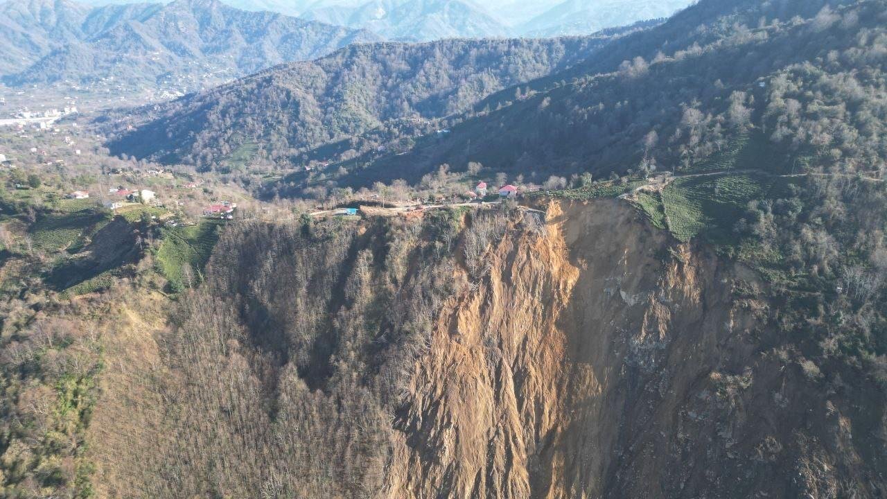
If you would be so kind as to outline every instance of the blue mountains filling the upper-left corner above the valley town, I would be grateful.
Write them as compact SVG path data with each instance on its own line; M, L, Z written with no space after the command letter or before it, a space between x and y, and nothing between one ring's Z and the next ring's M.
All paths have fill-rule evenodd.
M11 86L114 78L200 88L381 39L216 0L96 8L67 0L12 0L0 5L0 22L0 72Z

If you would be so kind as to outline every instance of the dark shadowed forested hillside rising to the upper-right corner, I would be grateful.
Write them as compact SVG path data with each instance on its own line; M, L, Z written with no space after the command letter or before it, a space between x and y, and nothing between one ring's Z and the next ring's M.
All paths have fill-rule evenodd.
M703 2L517 99L491 96L443 142L358 159L346 181L418 178L467 161L538 179L680 171L749 134L769 161L747 167L881 170L887 13L883 2L844 4Z

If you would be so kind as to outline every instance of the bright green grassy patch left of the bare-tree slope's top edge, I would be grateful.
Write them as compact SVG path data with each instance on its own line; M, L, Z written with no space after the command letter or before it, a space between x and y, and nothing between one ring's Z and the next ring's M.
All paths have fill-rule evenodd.
M191 265L195 278L200 280L223 224L219 220L204 220L196 226L163 229L163 242L157 250L157 267L174 288L184 283L184 264Z

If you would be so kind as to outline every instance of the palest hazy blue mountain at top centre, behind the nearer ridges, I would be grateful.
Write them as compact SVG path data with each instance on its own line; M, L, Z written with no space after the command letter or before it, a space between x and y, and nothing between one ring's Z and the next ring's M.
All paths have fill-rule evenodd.
M351 8L339 5L314 9L303 12L302 17L368 29L392 40L481 38L509 33L490 13L468 0L373 0Z

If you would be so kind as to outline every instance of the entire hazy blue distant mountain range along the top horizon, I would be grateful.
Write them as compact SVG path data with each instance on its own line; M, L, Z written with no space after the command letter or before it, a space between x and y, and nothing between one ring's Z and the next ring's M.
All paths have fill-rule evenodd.
M662 18L690 0L228 2L8 0L0 4L0 78L12 87L65 82L194 91L353 43L585 35Z

